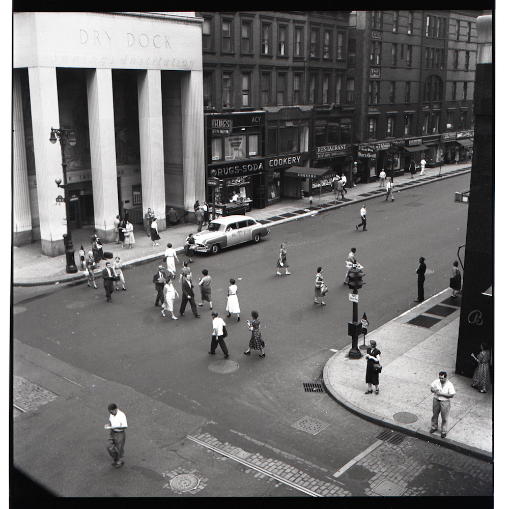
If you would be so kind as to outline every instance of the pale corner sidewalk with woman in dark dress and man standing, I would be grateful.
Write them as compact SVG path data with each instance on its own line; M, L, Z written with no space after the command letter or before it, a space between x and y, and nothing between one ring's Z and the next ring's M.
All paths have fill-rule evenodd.
M338 403L366 420L492 463L493 386L482 394L470 378L455 374L460 306L461 294L453 299L446 289L366 334L365 344L375 340L381 352L378 395L364 394L365 349L360 359L351 359L351 345L327 361L323 381ZM430 385L440 371L456 390L445 438L430 433ZM439 429L441 422L439 417Z

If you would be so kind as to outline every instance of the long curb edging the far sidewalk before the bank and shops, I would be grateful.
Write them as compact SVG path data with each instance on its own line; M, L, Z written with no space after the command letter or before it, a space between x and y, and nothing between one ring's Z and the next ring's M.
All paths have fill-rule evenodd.
M472 171L472 168L465 168L464 171L462 172L458 172L458 173L455 173L454 175L434 175L434 179L450 179L450 178L453 178L453 177L457 177L458 175L463 175L465 173L469 173ZM429 181L426 181L426 182L416 182L415 184L412 184L412 185L409 185L409 186L405 186L405 189L412 189L413 187L418 187L418 186L422 186L422 185L426 185L426 184L429 184L431 182L431 180ZM353 188L350 188L350 189L353 189ZM287 223L287 222L290 222L290 221L297 221L299 219L304 219L306 217L311 217L311 216L315 216L317 214L320 214L321 212L326 212L326 211L330 211L330 210L333 210L333 209L337 209L337 208L340 208L340 207L347 207L349 205L352 205L354 203L359 203L359 202L366 202L367 200L372 200L373 198L377 198L379 196L381 196L383 193L381 194L374 194L373 196L366 196L364 197L362 200L352 200L350 202L343 202L343 203L338 203L337 205L330 205L328 207L320 207L320 208L317 208L317 210L312 210L312 211L309 211L309 212L306 212L305 214L300 214L298 216L295 216L295 217L288 217L286 219L281 219L279 221L273 221L273 222L269 222L269 223L264 223L267 227L270 226L270 228L274 227L274 226L277 226L279 224L284 224L284 223ZM181 254L184 252L184 248L183 247L180 247L179 249L176 249L177 251L177 254ZM126 265L141 265L141 264L144 264L144 263L147 263L147 262L150 262L152 260L155 260L159 257L162 257L164 254L164 251L160 252L160 253L156 253L156 254L149 254L148 256L146 257L142 257L142 258L136 258L135 260L131 260L129 262L125 262L124 263L124 266ZM94 272L94 274L99 274L100 272ZM61 277L60 279L51 279L51 280L48 280L48 281L27 281L27 282L13 282L12 286L13 287L35 287L35 286L44 286L44 285L59 285L59 284L65 284L65 283L71 283L71 282L74 282L74 281L79 281L81 279L86 279L86 274L85 273L80 273L80 274L77 274L75 276L68 276L68 277Z

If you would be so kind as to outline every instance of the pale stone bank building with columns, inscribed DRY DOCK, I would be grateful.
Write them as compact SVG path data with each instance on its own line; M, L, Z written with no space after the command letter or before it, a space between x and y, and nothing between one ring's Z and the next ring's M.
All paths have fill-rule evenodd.
M15 246L58 256L67 224L111 242L148 208L164 230L166 204L205 197L204 161L194 12L14 13Z

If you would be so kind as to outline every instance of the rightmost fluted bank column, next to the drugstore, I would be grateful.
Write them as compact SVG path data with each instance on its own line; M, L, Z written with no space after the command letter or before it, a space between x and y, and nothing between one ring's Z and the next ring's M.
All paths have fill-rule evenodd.
M182 72L181 89L184 209L194 211L196 200L206 200L202 71Z

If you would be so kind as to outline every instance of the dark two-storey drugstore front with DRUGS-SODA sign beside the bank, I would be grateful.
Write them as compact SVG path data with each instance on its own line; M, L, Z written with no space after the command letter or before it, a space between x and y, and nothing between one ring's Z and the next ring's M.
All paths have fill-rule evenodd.
M265 112L206 114L205 122L207 203L216 215L265 208Z

